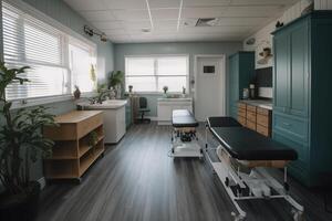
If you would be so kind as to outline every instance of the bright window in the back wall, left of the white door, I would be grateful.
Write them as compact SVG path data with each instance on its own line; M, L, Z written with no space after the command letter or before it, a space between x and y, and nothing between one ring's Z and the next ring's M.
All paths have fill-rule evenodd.
M188 87L188 56L125 57L126 88L135 92L181 92Z

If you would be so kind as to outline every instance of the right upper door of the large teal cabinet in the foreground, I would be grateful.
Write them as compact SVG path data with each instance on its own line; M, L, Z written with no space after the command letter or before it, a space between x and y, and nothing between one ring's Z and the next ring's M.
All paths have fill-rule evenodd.
M309 54L308 21L303 20L290 30L290 103L291 115L308 116Z

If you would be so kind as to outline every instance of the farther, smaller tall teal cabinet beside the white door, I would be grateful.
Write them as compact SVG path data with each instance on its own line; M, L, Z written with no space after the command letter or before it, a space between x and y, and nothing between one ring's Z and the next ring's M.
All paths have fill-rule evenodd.
M238 52L229 56L229 115L234 118L238 118L237 103L253 74L255 52Z

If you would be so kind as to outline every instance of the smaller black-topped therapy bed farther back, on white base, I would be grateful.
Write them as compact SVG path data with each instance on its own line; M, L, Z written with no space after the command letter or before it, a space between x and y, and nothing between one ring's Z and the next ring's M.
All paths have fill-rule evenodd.
M175 109L172 114L172 157L203 158L203 148L197 143L198 122L188 109Z

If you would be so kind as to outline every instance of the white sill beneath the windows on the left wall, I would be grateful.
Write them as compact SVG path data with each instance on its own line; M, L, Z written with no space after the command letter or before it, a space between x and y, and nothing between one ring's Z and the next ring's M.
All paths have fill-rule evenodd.
M94 92L82 93L81 98L89 98L95 95ZM72 101L74 103L74 97L72 95L60 95L60 96L48 96L48 97L38 97L38 98L28 98L28 99L17 99L12 101L11 109L19 109L32 106L46 105L59 102Z

